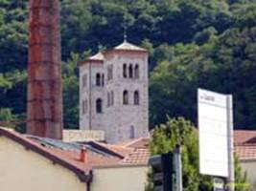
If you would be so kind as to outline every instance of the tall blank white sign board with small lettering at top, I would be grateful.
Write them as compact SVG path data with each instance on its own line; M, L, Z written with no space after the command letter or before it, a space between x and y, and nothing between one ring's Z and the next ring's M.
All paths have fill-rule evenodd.
M199 169L228 177L228 96L198 89Z

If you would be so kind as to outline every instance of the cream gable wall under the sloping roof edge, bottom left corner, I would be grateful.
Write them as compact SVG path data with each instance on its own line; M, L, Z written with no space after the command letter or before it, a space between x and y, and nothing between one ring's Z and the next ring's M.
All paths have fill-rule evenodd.
M86 190L75 173L10 138L0 137L0 159L1 191Z

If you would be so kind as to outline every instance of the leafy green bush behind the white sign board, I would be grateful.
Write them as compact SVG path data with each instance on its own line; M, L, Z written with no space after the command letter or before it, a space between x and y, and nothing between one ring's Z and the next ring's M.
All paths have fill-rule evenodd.
M176 144L182 143L182 173L184 191L210 191L212 190L211 178L202 176L198 171L198 135L193 124L183 117L169 118L169 120L156 126L152 132L150 149L151 154L173 152ZM238 185L246 184L246 176L242 172L239 162L235 162L235 175ZM149 173L151 182L152 175ZM151 191L151 183L146 186ZM236 189L247 191L246 187Z

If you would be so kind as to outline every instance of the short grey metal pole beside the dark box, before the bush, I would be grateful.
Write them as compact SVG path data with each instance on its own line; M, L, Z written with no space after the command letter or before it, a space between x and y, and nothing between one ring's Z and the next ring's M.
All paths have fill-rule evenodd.
M182 161L181 146L177 145L175 149L175 171L176 171L176 191L182 191Z

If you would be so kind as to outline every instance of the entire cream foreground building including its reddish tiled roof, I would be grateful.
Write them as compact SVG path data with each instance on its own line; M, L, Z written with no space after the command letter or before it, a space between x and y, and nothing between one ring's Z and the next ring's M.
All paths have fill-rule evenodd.
M84 153L48 141L0 128L1 191L144 191L148 149L92 141Z

